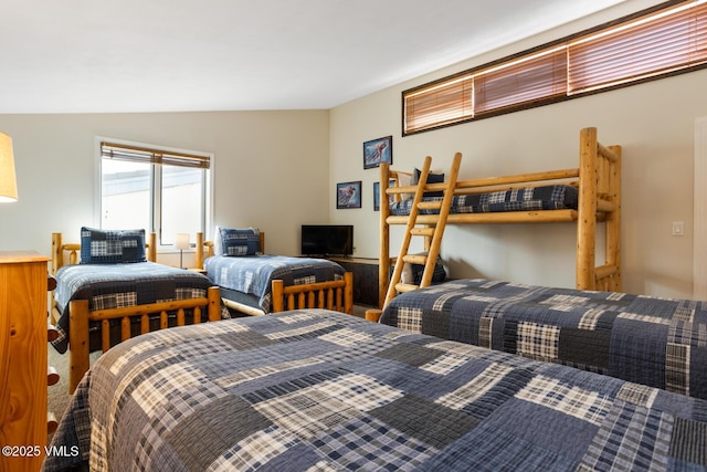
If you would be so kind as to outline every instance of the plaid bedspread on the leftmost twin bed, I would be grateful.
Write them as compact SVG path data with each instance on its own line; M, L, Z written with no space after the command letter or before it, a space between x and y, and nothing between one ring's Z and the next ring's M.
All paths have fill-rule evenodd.
M68 347L68 303L88 300L89 310L109 310L148 303L207 296L213 284L194 271L154 262L130 264L76 264L56 271L54 297L61 313L52 345L60 353ZM119 323L119 321L117 322ZM89 327L97 331L98 326Z

